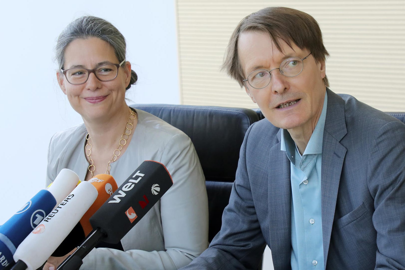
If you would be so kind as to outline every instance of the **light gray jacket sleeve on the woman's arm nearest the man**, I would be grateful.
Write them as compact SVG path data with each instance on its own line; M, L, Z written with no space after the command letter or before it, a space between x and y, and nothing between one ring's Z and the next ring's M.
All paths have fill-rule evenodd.
M192 142L185 134L168 141L161 160L173 186L160 200L165 251L93 249L83 269L178 269L208 246L208 200L205 179ZM136 237L136 236L135 236Z

